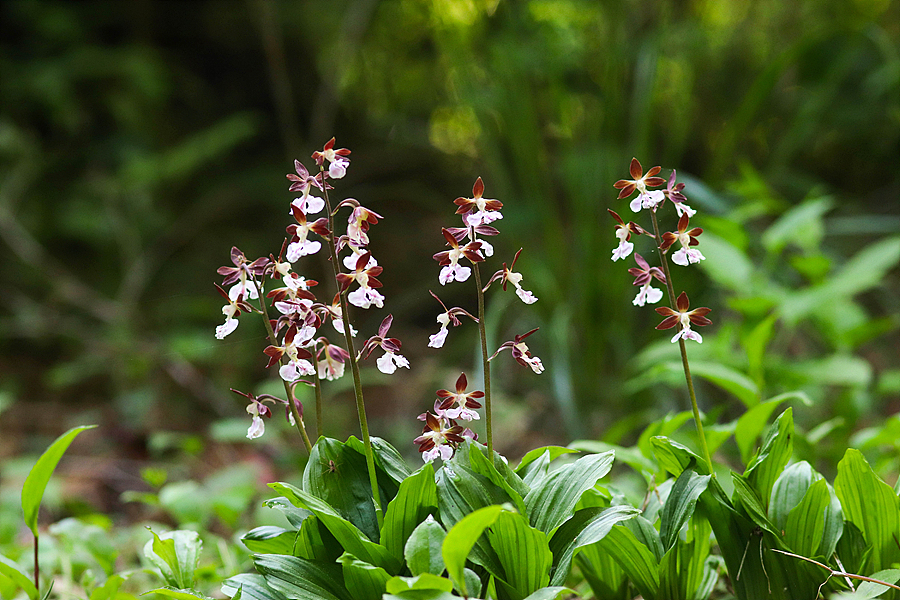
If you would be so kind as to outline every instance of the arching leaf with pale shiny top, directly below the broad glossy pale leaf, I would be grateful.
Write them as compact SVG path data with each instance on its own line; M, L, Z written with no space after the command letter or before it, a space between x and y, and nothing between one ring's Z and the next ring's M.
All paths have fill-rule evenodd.
M641 514L639 509L627 505L576 511L550 539L550 551L553 553L553 576L550 583L559 585L566 580L572 566L572 558L578 550L599 542L614 525L639 514Z

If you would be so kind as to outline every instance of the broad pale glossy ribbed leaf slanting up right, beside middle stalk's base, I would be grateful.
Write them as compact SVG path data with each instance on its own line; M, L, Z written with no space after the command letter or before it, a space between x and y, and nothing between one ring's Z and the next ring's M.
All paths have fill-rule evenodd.
M581 495L609 473L613 452L589 454L536 482L525 496L531 525L552 536L572 516Z

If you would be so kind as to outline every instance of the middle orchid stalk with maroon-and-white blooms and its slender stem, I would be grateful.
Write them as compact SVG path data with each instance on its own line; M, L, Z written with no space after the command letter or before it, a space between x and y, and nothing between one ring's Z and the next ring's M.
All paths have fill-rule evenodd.
M476 297L478 301L478 316L474 317L461 308L448 309L446 305L441 302L440 298L435 296L432 292L431 295L441 303L444 312L437 317L437 322L440 324L441 329L429 338L428 345L432 348L440 348L443 346L444 341L447 338L447 327L451 323L454 326L459 325L460 320L458 317L460 315L466 315L478 323L484 372L484 391L477 392L477 396L472 395L471 397L484 398L484 422L488 455L493 456L494 434L493 421L491 418L491 360L496 357L501 350L504 350L507 347L513 347L513 356L518 362L523 365L531 366L535 373L541 373L544 368L540 359L533 357L531 353L528 352L524 343L521 343L520 340L520 338L524 339L537 331L536 329L525 335L516 336L515 343L504 343L493 355L488 354L487 330L484 322L484 295L491 284L499 280L502 281L501 285L504 290L506 290L507 285L511 283L516 289L516 295L525 304L534 304L538 299L537 296L522 287L522 274L513 271L516 261L522 253L521 248L516 252L509 267L506 266L506 263L503 263L503 268L494 273L490 279L488 279L487 284L482 282L479 263L484 262L487 257L491 257L494 254L493 246L491 246L484 238L495 236L500 233L495 227L491 226L491 223L503 218L503 215L500 212L500 209L503 208L503 203L499 200L484 197L484 182L481 177L479 177L472 186L472 197L457 198L454 200L454 204L457 206L456 214L462 217L463 227L450 227L441 230L441 233L447 242L447 246L449 246L449 250L444 250L434 255L434 259L438 261L438 264L441 266L438 281L441 285L446 285L453 281L464 282L471 277L472 272L474 271ZM461 264L461 261L463 260L467 261L471 267ZM511 346L510 344L514 344L514 346ZM524 357L527 358L523 360ZM460 377L460 381L464 388L466 382L465 375ZM459 387L460 381L457 382L457 387ZM439 398L445 397L441 396L441 392L444 391L446 390L438 392ZM416 438L415 441L419 444L419 451L422 452L422 457L425 461L431 462L437 457L447 459L452 456L453 448L462 441L463 437L475 437L475 434L472 433L471 430L463 429L461 426L457 425L456 419L478 419L478 413L475 412L473 408L481 408L481 404L476 404L477 406L470 404L468 408L464 410L453 411L446 406L442 407L441 402L436 402L434 414L423 413L420 415L420 420L425 421L425 429L422 435Z

